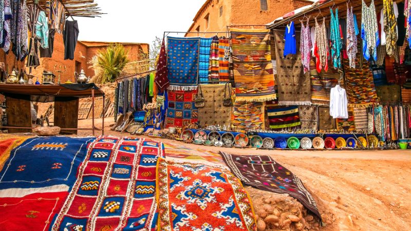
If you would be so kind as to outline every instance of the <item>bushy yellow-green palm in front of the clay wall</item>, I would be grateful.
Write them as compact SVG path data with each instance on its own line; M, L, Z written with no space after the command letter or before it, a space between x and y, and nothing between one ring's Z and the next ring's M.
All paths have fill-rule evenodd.
M95 83L113 83L129 62L128 50L121 44L110 45L106 50L100 50L92 63L92 68L97 69Z

